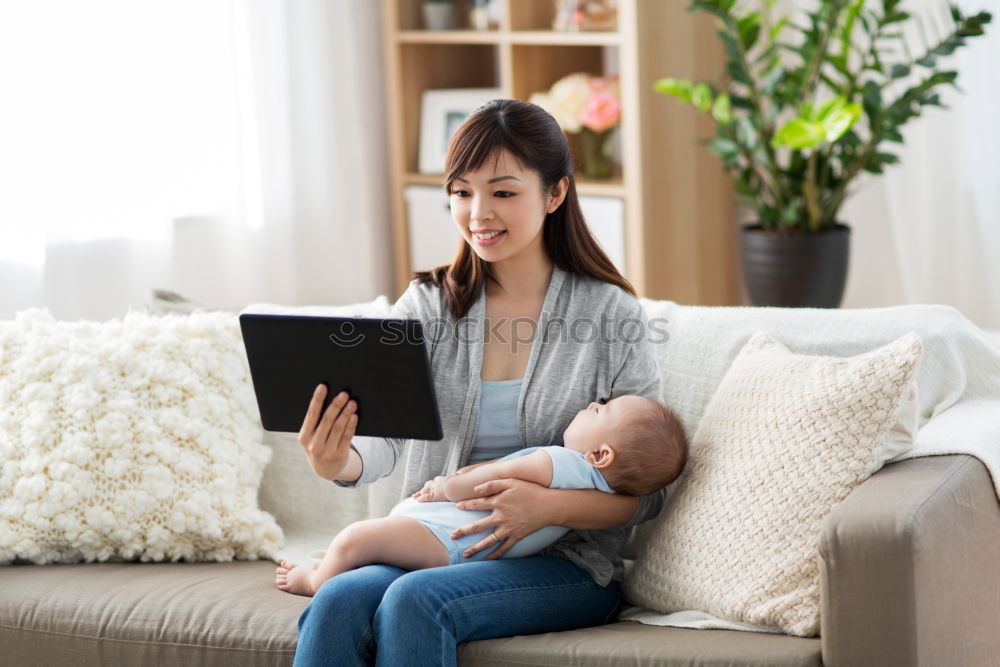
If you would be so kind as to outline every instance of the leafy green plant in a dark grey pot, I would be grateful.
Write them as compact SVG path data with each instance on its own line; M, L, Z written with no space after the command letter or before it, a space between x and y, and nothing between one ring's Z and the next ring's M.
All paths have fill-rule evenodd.
M715 121L708 148L758 218L741 230L754 305L835 308L847 278L850 229L838 213L849 186L898 162L889 144L903 142L902 127L924 108L944 106L939 87L955 86L958 72L939 60L982 35L991 15L950 4L945 21L924 21L901 0L818 0L797 16L775 15L775 0L747 4L689 8L717 20L721 83L664 78L655 89Z

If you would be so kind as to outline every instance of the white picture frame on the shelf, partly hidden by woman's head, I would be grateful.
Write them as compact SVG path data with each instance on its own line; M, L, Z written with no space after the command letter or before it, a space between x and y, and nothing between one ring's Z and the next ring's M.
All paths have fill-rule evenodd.
M503 96L500 88L425 90L420 105L417 170L421 174L444 173L445 155L451 135L473 111L490 100Z

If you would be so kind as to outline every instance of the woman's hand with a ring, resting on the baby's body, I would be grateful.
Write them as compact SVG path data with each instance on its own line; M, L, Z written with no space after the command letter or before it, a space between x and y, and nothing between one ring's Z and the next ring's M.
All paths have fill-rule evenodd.
M531 533L551 525L543 512L548 507L545 494L550 491L552 489L546 486L520 479L494 479L484 482L475 488L475 492L480 496L461 501L458 503L458 508L486 510L491 512L490 515L457 528L452 531L451 537L457 539L484 530L492 530L492 533L484 539L466 549L463 555L469 558L484 549L496 546L497 542L493 539L495 534L502 541L486 560L500 558Z

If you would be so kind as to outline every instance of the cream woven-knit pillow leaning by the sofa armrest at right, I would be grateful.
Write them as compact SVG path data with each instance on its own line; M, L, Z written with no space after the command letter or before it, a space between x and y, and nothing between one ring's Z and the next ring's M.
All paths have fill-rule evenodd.
M673 502L647 524L626 598L817 635L821 523L881 466L922 351L913 333L851 358L752 336L709 401Z

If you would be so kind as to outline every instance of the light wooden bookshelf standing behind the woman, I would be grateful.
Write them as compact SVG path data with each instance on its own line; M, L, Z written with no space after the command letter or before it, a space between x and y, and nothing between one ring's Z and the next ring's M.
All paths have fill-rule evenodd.
M397 295L412 269L427 268L411 267L404 189L441 183L417 170L423 91L496 87L527 100L584 71L619 75L620 164L611 179L576 181L581 196L624 202L626 277L649 298L739 302L732 191L699 141L712 135L711 121L653 91L661 76L722 71L711 21L681 0L619 0L617 30L556 32L552 0L506 0L497 29L428 31L421 0L381 1ZM458 8L458 24L468 25L468 7L459 0ZM569 139L579 163L576 136Z

